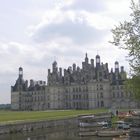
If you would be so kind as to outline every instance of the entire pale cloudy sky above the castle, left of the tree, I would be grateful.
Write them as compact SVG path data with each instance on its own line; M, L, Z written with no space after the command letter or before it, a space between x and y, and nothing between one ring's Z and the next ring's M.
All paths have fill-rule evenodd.
M24 79L46 81L54 60L81 67L87 52L129 72L127 52L108 41L130 12L130 0L0 0L0 104L10 103L20 66Z

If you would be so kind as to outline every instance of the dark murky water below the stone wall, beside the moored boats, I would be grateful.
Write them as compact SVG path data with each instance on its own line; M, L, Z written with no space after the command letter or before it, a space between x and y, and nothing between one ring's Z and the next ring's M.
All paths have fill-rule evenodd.
M110 137L80 137L78 131L78 128L38 129L32 132L0 135L0 140L112 140ZM131 137L129 140L140 140L140 137Z

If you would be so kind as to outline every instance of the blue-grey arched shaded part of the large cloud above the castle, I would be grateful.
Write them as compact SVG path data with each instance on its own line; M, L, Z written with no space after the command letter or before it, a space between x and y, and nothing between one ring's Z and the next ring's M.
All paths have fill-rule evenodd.
M66 20L63 23L49 24L39 28L32 36L36 42L46 42L59 37L68 37L74 43L83 45L101 41L105 32L89 26L87 23Z

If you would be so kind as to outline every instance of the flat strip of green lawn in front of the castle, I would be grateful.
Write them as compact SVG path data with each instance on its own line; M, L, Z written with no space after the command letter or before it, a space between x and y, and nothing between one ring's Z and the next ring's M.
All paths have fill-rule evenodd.
M107 112L107 109L94 110L52 110L52 111L0 111L0 124L22 121L55 120L83 114Z

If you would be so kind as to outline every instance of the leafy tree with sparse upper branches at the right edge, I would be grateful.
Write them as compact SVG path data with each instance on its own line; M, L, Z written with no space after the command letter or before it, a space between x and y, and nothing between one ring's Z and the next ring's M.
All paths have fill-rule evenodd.
M115 46L128 51L128 61L131 69L131 78L128 84L140 99L140 0L131 0L130 21L119 23L111 30Z

